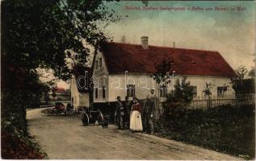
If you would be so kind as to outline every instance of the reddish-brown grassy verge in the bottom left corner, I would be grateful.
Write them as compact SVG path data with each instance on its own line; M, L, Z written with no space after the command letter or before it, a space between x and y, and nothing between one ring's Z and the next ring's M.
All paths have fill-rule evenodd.
M6 120L1 128L1 156L2 159L48 159L30 134Z

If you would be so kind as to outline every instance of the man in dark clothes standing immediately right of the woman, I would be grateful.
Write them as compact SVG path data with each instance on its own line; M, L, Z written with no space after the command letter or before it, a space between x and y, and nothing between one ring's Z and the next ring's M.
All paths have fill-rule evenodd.
M150 101L149 97L150 96L147 95L142 115L145 132L153 134L153 113L155 107L153 101Z

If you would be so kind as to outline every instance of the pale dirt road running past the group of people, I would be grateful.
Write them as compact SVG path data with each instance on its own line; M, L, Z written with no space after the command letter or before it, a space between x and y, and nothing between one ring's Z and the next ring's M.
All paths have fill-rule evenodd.
M82 126L78 116L46 116L41 110L27 111L27 121L49 159L237 159L114 126Z

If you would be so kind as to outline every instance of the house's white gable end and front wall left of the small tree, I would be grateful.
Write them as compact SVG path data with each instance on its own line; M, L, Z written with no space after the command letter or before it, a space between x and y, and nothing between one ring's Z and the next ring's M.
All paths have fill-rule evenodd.
M96 63L94 63L94 88L96 86L99 87L98 89L98 98L95 97L95 89L94 89L94 102L108 102L108 101L116 101L116 97L120 96L122 97L122 100L124 100L124 97L126 96L126 85L136 85L135 94L136 97L139 99L145 98L147 94L150 93L150 89L155 87L155 81L151 77L149 77L149 74L143 74L143 73L130 73L125 76L125 72L120 74L109 74L107 71L107 65L105 62L105 58L101 52L98 52L95 56L95 60L98 60L99 58L102 58L102 67L101 68L95 68ZM129 76L132 76L132 78L129 78ZM145 81L145 78L142 78L141 76L144 76L148 79L148 81ZM133 82L135 81L135 83ZM145 83L140 83L141 81L145 81ZM146 83L147 82L147 83ZM145 85L147 85L147 88ZM107 89L105 92L105 98L103 98L103 85L107 85Z

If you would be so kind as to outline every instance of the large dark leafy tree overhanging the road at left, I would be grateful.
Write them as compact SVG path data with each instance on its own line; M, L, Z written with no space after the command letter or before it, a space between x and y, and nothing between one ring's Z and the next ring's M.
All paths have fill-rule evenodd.
M107 41L102 28L120 17L101 0L6 0L1 7L2 120L15 115L26 130L25 103L44 89L36 68L68 80L73 71L65 60L85 64L90 50L82 41L94 47Z

